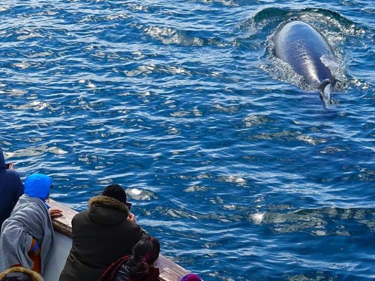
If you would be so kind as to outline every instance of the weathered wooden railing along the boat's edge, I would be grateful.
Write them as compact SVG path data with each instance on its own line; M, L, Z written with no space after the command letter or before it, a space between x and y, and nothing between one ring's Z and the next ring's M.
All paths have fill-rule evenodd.
M57 201L50 200L49 205L52 209L61 209L62 217L53 219L53 227L56 231L72 237L72 219L78 213L69 206L59 203ZM167 259L166 257L160 255L156 261L156 265L159 267L160 281L180 281L181 277L188 274L189 272L176 264L175 262Z

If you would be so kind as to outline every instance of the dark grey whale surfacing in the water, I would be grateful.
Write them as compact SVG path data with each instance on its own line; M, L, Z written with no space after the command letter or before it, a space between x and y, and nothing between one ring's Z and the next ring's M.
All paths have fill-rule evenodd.
M307 85L320 91L325 105L331 103L336 80L322 58L337 60L323 35L309 23L290 19L273 38L275 56L288 63Z

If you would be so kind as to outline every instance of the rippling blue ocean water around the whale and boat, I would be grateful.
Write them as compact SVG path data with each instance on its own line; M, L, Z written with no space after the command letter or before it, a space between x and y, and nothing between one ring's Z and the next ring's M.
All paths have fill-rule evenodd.
M272 52L291 17L331 44L335 100ZM122 184L205 281L375 279L370 0L6 0L0 145L76 210Z

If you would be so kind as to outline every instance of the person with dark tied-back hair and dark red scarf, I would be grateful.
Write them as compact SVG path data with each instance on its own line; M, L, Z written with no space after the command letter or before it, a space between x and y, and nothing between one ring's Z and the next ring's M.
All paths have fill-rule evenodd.
M159 241L147 236L134 246L132 256L113 262L99 281L157 281L160 272L155 261L159 254Z

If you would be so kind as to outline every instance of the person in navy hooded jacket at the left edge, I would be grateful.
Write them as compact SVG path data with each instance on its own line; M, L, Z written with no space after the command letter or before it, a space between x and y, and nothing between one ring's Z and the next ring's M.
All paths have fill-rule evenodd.
M5 163L0 147L0 228L23 194L23 184L13 163Z

